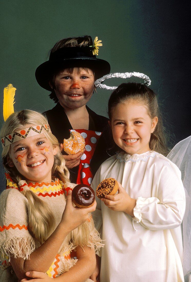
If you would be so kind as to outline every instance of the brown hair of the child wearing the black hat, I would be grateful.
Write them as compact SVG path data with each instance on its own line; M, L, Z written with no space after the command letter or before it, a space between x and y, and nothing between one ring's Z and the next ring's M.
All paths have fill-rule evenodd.
M81 37L63 38L63 39L59 40L54 45L54 47L51 49L50 56L51 56L52 53L54 53L55 51L57 51L58 49L63 48L63 47L86 47L86 46L91 46L91 45L93 45L93 41L92 41L91 36L89 36L89 35L84 35L84 36L81 36ZM83 67L83 69L88 70L88 68L84 68L84 67ZM58 68L57 70L55 70L55 73L53 74L53 76L50 79L50 84L53 87L53 91L49 94L49 97L55 103L58 103L58 98L57 98L56 93L54 91L55 77L61 70L64 71L63 68ZM73 73L73 68L67 68L65 70L70 74ZM77 71L79 71L79 70L80 70L80 68L77 67ZM94 90L96 91L95 86L94 86Z

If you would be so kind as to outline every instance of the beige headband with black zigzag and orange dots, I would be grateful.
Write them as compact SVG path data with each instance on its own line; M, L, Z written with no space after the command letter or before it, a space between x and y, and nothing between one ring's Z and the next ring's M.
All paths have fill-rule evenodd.
M18 131L15 131L13 133L10 133L6 135L5 137L1 138L1 143L3 148L17 142L19 140L23 140L25 138L38 135L38 134L43 134L43 133L50 133L51 129L49 127L49 124L38 124L38 125L33 125Z

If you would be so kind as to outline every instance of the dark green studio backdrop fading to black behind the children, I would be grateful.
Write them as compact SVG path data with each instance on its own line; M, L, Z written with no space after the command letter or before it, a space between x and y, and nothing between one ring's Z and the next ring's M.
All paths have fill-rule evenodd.
M170 2L170 3L168 3ZM111 72L143 72L163 103L171 141L190 135L190 6L176 1L1 1L0 124L3 88L16 90L15 110L54 106L36 82L36 67L61 38L91 35L102 40L99 57ZM119 85L122 79L108 80ZM110 91L97 90L88 106L107 116ZM1 168L1 178L3 171Z

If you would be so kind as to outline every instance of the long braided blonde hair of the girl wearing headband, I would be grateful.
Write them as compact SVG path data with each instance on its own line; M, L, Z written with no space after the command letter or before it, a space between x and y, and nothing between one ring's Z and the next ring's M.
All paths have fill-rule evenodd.
M42 114L31 111L23 110L11 114L1 128L1 138L17 131L21 128L31 125L47 124L47 119ZM57 138L52 133L45 133L45 136L52 144L53 147L59 147ZM3 148L2 158L5 170L10 174L12 180L18 185L23 176L18 172L15 167L8 165L10 158L10 145ZM62 157L60 149L54 156L54 164L52 168L52 179L59 178L62 182L70 182L70 173L65 166L65 160ZM23 192L21 192L23 193ZM55 219L49 206L46 202L42 201L31 190L25 191L25 197L29 202L29 231L31 235L41 244L51 235L55 228Z

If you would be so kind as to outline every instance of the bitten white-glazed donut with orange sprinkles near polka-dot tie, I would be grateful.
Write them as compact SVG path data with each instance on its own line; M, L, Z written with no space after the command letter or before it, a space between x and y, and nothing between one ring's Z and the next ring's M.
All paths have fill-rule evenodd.
M63 150L68 155L74 155L83 151L85 144L83 136L77 131L72 131L70 133L70 137L68 139L64 139L63 141Z

